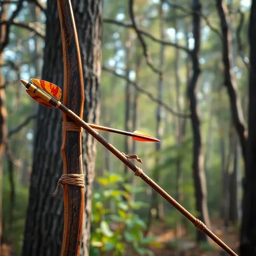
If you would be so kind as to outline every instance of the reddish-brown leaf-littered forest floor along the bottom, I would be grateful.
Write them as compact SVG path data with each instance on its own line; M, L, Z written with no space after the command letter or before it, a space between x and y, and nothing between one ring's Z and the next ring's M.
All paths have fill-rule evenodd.
M223 242L238 253L239 248L239 236L238 231L228 231L224 233L222 231L223 221L219 219L211 220L212 231L216 234ZM157 242L162 245L162 248L150 248L155 256L225 256L228 255L223 249L211 241L210 247L202 248L197 246L194 241L191 241L189 236L185 234L185 230L181 233L180 238L176 238L175 232L169 229L165 223L157 223L153 226L149 232L149 235L157 236ZM2 245L0 251L1 256L17 256L11 253L10 245ZM134 256L137 256L134 254Z

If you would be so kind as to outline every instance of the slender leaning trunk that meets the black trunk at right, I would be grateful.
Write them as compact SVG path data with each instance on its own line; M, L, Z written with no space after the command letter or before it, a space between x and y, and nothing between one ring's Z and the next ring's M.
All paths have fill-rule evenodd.
M224 66L224 85L227 87L233 123L238 133L242 155L246 158L247 131L242 113L238 86L233 72L232 35L229 27L228 9L226 1L216 0L216 8L220 16L222 31L222 61Z

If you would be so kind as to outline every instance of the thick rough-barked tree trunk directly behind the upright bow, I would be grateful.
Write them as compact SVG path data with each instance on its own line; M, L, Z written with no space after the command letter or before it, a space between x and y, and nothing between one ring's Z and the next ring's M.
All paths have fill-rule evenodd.
M72 1L84 73L84 120L97 123L101 67L101 1ZM62 42L57 3L48 1L46 47L42 79L63 88ZM52 196L63 172L61 158L62 114L39 106L36 120L33 172L24 232L23 256L59 256L63 230L62 189ZM88 255L95 140L83 132L85 212L80 255Z

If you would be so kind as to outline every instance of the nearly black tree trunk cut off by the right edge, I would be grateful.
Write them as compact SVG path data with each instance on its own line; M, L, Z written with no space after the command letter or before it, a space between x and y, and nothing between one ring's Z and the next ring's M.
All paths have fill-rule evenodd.
M256 1L252 1L249 20L249 120L240 256L256 254Z

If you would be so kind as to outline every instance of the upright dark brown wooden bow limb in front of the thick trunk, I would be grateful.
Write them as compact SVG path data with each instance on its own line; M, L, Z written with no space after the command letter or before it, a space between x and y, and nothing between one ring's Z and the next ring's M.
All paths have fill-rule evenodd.
M71 0L57 0L64 65L63 104L82 118L84 82ZM63 114L63 121L72 121ZM64 174L82 174L81 132L63 130ZM84 210L84 188L63 184L64 229L61 255L79 255Z

